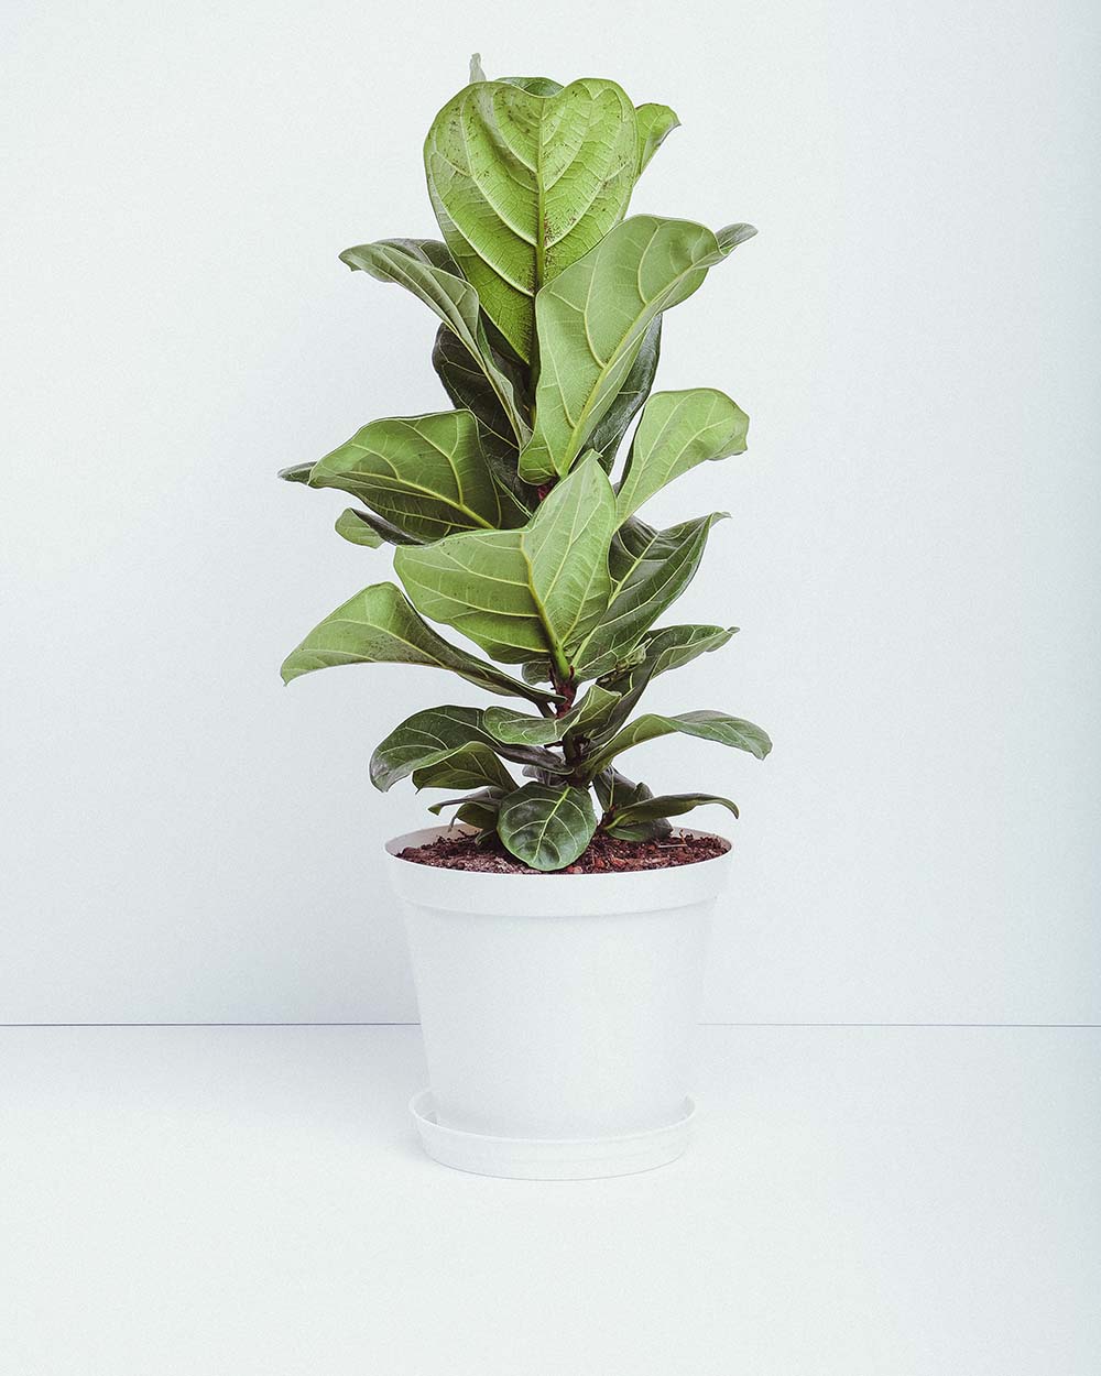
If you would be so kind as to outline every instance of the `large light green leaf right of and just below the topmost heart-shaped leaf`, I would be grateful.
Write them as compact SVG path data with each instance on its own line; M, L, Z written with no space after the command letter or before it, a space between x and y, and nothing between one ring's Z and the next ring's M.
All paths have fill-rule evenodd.
M535 303L535 428L520 454L524 482L570 471L650 326L690 297L728 252L702 224L636 215L544 286Z

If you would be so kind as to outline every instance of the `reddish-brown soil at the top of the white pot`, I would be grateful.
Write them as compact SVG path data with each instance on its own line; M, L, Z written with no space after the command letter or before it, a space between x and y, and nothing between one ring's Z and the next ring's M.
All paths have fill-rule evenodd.
M727 849L718 837L688 837L673 834L661 841L617 841L597 832L585 850L571 866L553 870L552 874L623 874L628 870L669 870L680 864L696 864L701 860L714 860ZM454 835L436 837L424 846L406 846L402 860L413 864L428 864L438 870L476 870L480 874L542 874L523 864L495 842L490 846L475 845L473 834L456 831Z

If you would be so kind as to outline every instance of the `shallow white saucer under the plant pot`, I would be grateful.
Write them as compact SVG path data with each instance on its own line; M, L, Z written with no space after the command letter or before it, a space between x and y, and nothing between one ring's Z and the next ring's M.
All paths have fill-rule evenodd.
M421 1090L409 1101L421 1143L434 1161L513 1181L590 1181L667 1165L688 1146L695 1110L695 1104L685 1099L684 1117L648 1132L556 1141L483 1137L445 1127L436 1121L431 1090Z

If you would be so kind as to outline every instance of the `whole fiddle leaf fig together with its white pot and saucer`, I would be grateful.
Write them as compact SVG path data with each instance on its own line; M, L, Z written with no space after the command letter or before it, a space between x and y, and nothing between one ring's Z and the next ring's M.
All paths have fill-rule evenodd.
M745 451L723 392L652 384L663 312L754 230L626 217L677 125L666 106L606 80L489 81L476 59L471 77L424 147L442 242L341 255L439 318L453 409L372 421L281 475L354 497L337 531L392 545L398 579L326 616L282 676L425 665L512 703L418 711L370 762L376 787L411 779L451 794L434 813L457 809L387 845L431 1080L413 1116L465 1170L626 1174L685 1146L706 919L729 868L727 841L670 819L738 810L655 795L622 757L670 732L769 750L724 711L636 711L658 674L735 632L659 625L724 513L656 530L639 512Z

